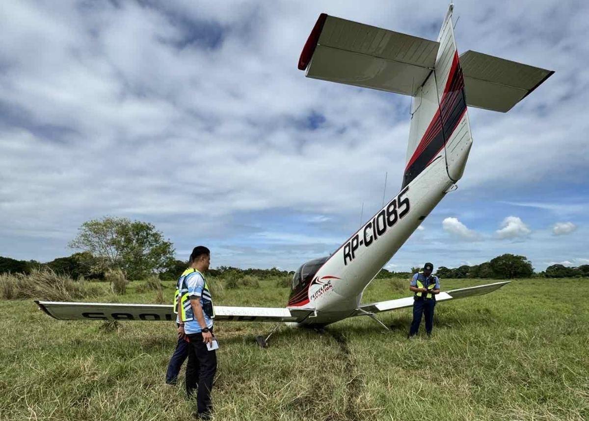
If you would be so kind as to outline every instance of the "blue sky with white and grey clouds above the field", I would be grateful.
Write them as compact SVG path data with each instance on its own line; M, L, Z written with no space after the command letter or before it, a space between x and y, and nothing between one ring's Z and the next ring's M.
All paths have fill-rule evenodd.
M418 4L418 5L415 5ZM0 8L0 255L70 255L82 222L152 222L177 257L294 269L398 192L409 98L306 79L321 12L436 39L445 1L18 1ZM589 263L589 8L456 1L459 52L556 73L474 145L386 266Z

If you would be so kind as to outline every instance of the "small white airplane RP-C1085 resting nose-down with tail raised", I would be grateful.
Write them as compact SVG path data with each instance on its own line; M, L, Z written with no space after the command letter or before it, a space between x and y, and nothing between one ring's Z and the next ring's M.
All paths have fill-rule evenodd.
M362 293L456 188L472 145L466 106L507 112L554 73L475 51L458 55L452 10L450 5L437 41L319 16L299 59L307 77L413 97L401 191L334 253L300 266L286 308L215 306L215 320L325 326L352 316L378 321L375 313L412 306L412 296L361 304ZM436 300L482 295L506 283L441 292ZM176 319L173 305L37 304L60 320Z

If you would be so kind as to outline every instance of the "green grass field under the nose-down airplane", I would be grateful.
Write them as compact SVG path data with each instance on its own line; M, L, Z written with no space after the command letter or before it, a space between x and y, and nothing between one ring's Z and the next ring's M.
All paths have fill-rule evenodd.
M493 282L493 281L490 281ZM515 280L489 295L439 303L434 335L407 340L411 309L348 319L325 332L217 323L216 420L587 420L587 280ZM442 289L479 280L442 280ZM99 284L107 289L108 285ZM172 283L164 283L166 300ZM110 302L154 302L133 282ZM276 280L224 289L217 305L284 306ZM408 295L373 282L364 302ZM93 299L96 300L96 299ZM423 325L421 330L423 330ZM183 383L164 386L170 322L65 322L31 300L0 300L0 419L184 420ZM183 373L181 374L183 375Z

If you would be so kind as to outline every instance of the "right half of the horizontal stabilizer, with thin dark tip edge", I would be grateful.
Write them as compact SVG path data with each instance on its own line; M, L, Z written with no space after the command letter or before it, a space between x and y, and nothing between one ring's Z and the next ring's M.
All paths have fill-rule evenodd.
M466 105L501 112L509 111L554 73L476 51L461 54L460 65Z

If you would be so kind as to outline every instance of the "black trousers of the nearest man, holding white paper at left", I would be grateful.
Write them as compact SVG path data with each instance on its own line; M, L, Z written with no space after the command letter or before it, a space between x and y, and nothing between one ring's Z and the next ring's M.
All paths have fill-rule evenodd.
M207 349L201 333L192 333L188 338L190 347L186 366L186 393L192 397L196 392L198 413L210 415L213 411L211 390L217 372L217 354Z

